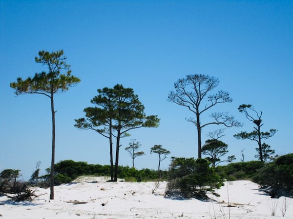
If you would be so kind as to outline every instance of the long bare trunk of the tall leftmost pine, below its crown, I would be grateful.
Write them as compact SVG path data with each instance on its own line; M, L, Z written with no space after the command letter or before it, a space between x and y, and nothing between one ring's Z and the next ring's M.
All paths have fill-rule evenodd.
M54 165L55 165L55 111L54 94L51 93L51 112L52 112L52 157L51 157L51 177L50 177L50 199L54 199Z

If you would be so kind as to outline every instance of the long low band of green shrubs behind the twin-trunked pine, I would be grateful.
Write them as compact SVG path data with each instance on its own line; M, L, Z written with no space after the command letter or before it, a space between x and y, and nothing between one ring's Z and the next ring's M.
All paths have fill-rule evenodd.
M55 164L55 184L70 183L72 180L83 175L110 176L110 165L87 164L72 160L61 161ZM118 178L126 181L156 180L158 172L151 169L137 170L129 166L118 167ZM162 178L167 179L167 171L162 171Z

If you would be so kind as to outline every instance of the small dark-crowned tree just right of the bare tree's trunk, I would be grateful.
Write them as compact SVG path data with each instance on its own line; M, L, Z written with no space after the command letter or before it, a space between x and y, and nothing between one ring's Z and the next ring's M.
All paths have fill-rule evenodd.
M204 155L208 155L206 159L212 164L212 166L216 166L222 162L231 162L235 160L235 156L229 156L227 160L221 161L220 157L225 156L229 151L228 145L224 142L216 139L209 139L206 141L206 144L202 147L202 153Z

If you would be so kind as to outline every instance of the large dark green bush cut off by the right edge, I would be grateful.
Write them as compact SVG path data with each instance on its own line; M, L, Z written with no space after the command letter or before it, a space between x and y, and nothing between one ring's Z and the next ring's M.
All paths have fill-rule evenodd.
M293 154L287 154L266 164L254 178L256 183L268 188L272 198L293 196Z

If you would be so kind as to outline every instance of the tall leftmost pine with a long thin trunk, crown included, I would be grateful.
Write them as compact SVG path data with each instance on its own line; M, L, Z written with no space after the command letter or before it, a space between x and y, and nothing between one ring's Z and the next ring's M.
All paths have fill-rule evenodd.
M55 113L54 94L64 92L69 87L76 85L80 79L71 74L70 65L66 64L66 57L63 50L57 52L40 51L39 57L35 57L36 63L40 63L48 68L48 72L36 73L33 78L28 77L17 82L10 83L10 87L15 90L16 95L24 93L38 93L50 98L52 113L52 159L51 159L51 192L50 199L54 199L54 161L55 161ZM64 71L64 73L62 73Z

